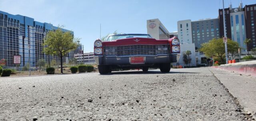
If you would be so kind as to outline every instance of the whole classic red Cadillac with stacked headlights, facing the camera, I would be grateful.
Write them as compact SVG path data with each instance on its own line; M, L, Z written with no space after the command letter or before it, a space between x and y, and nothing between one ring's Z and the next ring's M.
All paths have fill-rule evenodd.
M177 37L169 40L156 40L148 34L118 34L108 36L102 42L94 42L94 58L100 74L110 73L112 69L160 68L170 71L170 63L180 57L180 42Z

